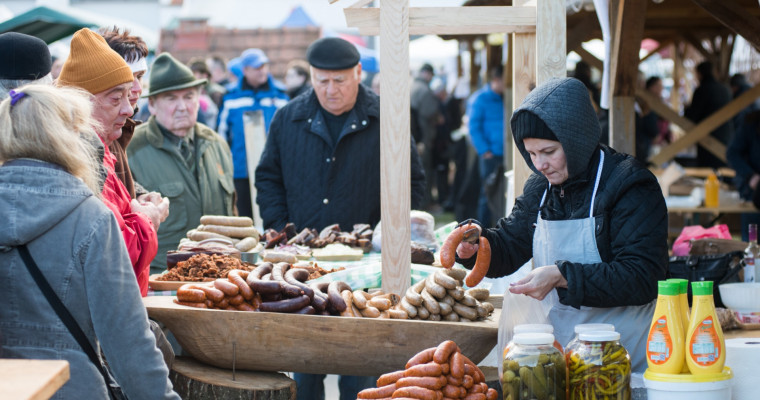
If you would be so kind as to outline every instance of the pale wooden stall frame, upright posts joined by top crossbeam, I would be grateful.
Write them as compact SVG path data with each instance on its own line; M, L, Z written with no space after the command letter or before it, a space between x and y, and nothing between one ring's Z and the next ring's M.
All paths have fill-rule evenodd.
M410 8L409 0L381 0L380 7L365 7L371 2L354 1L343 12L349 27L358 28L364 35L379 35L382 44L382 288L404 293L411 280L409 35L512 34L512 104L519 105L535 85L565 76L565 1L515 0L514 6ZM522 159L515 162L516 192L529 175Z

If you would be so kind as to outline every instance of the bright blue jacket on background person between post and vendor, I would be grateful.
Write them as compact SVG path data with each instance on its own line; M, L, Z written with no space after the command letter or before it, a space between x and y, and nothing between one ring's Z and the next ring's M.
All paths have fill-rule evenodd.
M504 98L485 85L473 93L467 105L472 144L478 155L490 151L504 155Z

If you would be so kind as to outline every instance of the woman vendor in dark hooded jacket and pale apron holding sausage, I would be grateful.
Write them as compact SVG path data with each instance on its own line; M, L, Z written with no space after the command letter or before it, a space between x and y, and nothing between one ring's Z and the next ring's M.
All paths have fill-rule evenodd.
M643 372L657 281L668 265L657 179L633 156L599 143L588 91L576 79L537 87L511 126L534 173L508 217L479 227L491 243L487 276L512 274L533 258L533 270L509 290L553 302L557 340L569 342L576 324L614 324L633 371ZM457 260L472 268L476 253L476 244L462 242Z

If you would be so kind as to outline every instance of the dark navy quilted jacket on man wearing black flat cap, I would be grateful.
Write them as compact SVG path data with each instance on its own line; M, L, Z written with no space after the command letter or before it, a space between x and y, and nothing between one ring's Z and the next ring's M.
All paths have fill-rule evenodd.
M359 86L338 143L325 127L314 89L277 111L256 168L256 203L264 228L292 222L300 230L380 221L380 98ZM398 147L404 149L403 144ZM409 144L411 204L425 191L414 140Z

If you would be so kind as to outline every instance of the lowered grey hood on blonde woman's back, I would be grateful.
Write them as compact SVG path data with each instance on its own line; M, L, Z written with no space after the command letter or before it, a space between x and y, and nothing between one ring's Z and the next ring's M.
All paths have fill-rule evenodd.
M28 243L92 196L85 184L46 162L19 159L0 166L0 249Z

